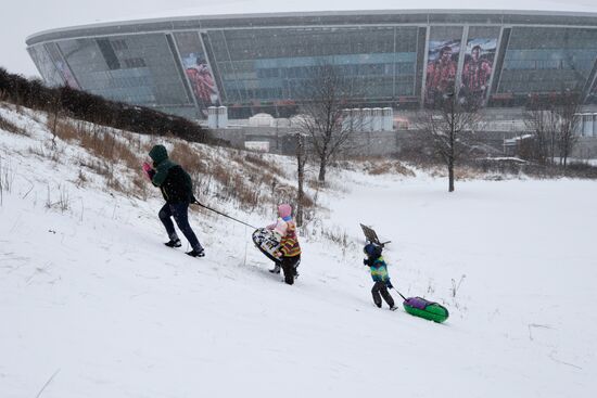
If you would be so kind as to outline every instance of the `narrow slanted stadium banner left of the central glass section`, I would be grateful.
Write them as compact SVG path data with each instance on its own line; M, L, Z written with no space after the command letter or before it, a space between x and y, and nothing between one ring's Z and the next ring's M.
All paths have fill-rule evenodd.
M219 95L199 33L180 31L174 36L199 110L204 117L207 117L207 107L218 105Z

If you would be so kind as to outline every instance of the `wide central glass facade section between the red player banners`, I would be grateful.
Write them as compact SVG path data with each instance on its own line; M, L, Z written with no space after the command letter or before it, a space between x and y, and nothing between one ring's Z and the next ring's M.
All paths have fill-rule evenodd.
M209 31L226 103L300 100L321 65L358 78L371 102L414 95L416 27Z

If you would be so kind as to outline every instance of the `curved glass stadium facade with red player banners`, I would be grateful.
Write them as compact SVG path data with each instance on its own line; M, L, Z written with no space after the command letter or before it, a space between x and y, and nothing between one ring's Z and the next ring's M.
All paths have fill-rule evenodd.
M417 108L455 88L488 107L566 90L597 103L597 14L359 11L189 16L27 38L50 85L191 118L296 112L318 65L366 87L363 106Z

